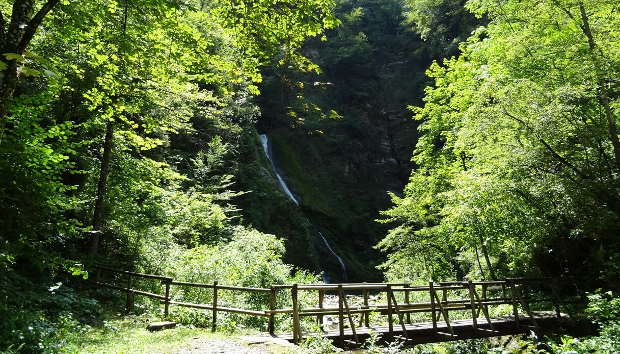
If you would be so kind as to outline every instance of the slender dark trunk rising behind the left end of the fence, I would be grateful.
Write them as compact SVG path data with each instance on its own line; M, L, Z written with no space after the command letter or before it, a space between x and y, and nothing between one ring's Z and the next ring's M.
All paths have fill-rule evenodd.
M95 200L95 212L92 217L92 233L89 240L89 255L95 255L99 248L99 235L104 212L105 192L107 190L108 172L110 170L110 155L112 154L112 138L114 135L114 122L108 120L105 129L104 155L101 159L99 184L97 185L97 199Z

